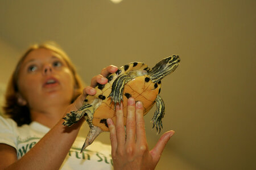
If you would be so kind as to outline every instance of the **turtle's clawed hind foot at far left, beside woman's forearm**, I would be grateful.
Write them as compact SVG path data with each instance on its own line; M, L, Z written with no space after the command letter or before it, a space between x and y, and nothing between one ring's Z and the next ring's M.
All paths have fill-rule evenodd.
M85 104L82 105L82 107L79 108L77 111L71 111L70 113L67 113L66 116L63 118L63 125L72 126L73 124L76 124L82 116L86 116L86 110L88 110L88 108L90 107L92 107L92 105Z

